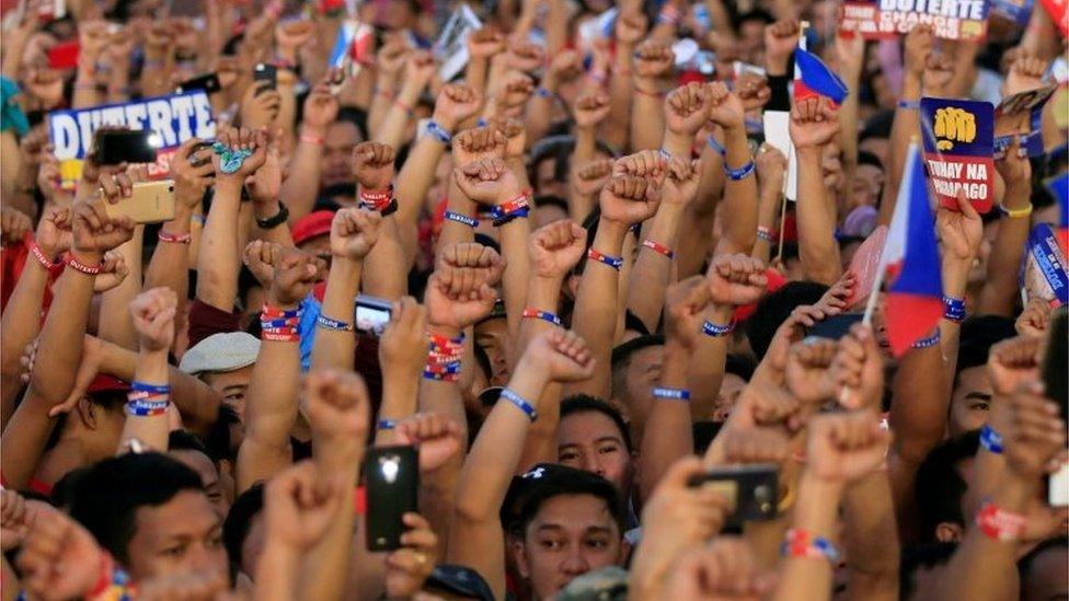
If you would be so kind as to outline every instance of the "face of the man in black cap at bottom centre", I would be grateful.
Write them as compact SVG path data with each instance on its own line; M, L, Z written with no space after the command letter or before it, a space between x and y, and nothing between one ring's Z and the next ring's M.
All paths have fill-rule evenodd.
M623 541L604 500L560 495L542 504L518 547L520 575L536 599L550 599L576 576L618 565Z

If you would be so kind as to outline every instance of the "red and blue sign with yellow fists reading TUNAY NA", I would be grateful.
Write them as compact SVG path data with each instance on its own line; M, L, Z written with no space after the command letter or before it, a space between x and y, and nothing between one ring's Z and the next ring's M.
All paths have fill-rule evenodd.
M978 212L991 210L995 196L995 108L990 103L920 100L924 165L935 197L957 210L957 195Z

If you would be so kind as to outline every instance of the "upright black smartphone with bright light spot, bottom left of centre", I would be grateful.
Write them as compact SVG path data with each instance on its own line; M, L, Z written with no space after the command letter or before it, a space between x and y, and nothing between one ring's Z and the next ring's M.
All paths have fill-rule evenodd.
M364 460L368 551L401 548L401 517L418 511L419 453L415 447L373 447Z

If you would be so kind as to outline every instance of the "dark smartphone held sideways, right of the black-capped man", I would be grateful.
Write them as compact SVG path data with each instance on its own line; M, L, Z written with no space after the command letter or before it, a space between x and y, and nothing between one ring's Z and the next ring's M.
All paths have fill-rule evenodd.
M725 527L767 521L777 516L780 467L773 463L717 467L690 479L691 488L712 487L727 498Z

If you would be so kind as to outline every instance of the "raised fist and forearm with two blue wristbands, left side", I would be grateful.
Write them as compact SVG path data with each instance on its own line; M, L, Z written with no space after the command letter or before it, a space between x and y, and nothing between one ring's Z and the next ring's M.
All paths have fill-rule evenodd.
M135 440L149 449L165 452L170 434L171 385L168 350L174 342L177 296L169 288L152 288L138 294L129 312L138 337L137 368L134 370L126 423L118 452L134 450Z

